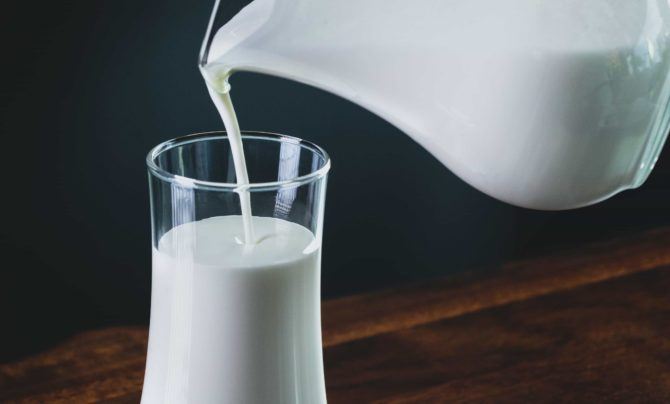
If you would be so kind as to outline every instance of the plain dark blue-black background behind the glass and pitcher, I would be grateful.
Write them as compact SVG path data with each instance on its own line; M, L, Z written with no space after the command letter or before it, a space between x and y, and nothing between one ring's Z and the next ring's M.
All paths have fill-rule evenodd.
M3 6L0 360L78 330L148 322L145 154L222 128L196 68L210 3ZM530 211L475 191L345 100L258 75L232 85L243 129L306 138L331 154L325 297L495 270L670 223L667 156L641 189L576 211Z

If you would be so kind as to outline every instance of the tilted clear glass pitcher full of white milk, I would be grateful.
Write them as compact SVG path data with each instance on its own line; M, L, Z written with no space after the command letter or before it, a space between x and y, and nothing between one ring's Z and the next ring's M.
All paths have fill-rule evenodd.
M214 27L204 71L215 87L236 70L320 87L489 195L573 208L653 167L669 22L662 1L255 0Z

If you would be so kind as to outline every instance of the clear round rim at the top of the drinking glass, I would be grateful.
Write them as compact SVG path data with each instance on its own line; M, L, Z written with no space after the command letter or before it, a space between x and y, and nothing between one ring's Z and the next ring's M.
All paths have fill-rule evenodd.
M299 145L301 147L311 150L313 153L320 155L324 159L324 164L319 169L314 170L309 174L301 175L287 180L270 181L270 182L252 182L246 185L239 185L237 183L230 183L230 182L204 181L195 178L185 177L182 175L173 174L159 167L155 163L155 159L160 154L178 146L183 146L186 144L204 140L228 139L227 132L225 130L222 130L222 131L192 133L189 135L176 137L159 143L158 145L154 146L151 150L149 150L149 153L147 153L146 157L147 168L149 169L151 174L162 179L163 181L176 183L179 184L179 186L181 187L207 189L212 191L233 191L233 192L271 191L281 188L295 188L301 185L318 181L321 178L325 177L328 174L328 171L330 171L330 156L321 146L317 145L316 143L310 142L308 140L303 140L294 136L282 135L273 132L243 130L241 131L241 133L243 141L245 139L256 139L256 140L266 140L279 143L291 143Z

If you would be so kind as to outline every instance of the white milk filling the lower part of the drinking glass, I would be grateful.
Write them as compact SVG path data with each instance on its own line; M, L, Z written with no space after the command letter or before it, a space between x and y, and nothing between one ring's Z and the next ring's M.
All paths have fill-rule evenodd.
M320 245L240 216L177 226L153 252L142 403L324 403Z

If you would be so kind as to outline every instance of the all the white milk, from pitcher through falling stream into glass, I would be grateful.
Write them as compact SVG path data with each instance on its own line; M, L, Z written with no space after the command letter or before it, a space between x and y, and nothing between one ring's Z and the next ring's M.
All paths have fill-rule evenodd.
M181 224L154 250L143 403L326 399L320 240L253 216L235 71L356 102L474 187L537 209L639 186L668 131L660 0L255 0L223 26L217 8L200 67L242 215Z

